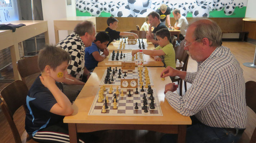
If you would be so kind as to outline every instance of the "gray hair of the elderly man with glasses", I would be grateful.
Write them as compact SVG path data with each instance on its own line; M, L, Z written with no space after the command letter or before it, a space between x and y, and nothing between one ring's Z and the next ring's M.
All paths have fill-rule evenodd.
M195 39L203 39L208 38L212 44L210 46L221 46L221 29L219 25L210 20L210 19L196 19L193 23L189 24L190 26L196 26L196 29L194 31L194 38Z

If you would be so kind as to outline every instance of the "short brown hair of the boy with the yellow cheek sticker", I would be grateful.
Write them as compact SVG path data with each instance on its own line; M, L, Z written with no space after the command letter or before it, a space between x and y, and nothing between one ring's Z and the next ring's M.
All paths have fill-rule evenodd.
M40 50L37 62L38 68L42 72L46 65L51 66L55 70L63 61L68 61L68 63L71 61L70 54L67 51L60 47L46 45L44 49Z

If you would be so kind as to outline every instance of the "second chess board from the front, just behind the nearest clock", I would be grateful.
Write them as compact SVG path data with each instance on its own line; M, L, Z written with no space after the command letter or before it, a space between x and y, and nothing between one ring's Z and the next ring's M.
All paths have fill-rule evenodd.
M102 79L101 79L101 82L100 82L100 85L121 85L121 78L123 78L124 77L124 72L126 72L126 75L127 75L127 77L124 77L124 78L138 78L138 85L141 85L140 84L140 78L139 78L139 72L138 72L138 68L137 67L135 67L135 69L134 70L132 70L132 69L123 69L123 70L121 70L121 73L122 73L122 75L120 75L121 76L121 78L118 78L118 72L119 72L119 68L117 68L117 71L115 71L115 74L113 75L112 73L113 73L113 68L114 67L112 67L112 71L110 71L110 79L112 78L112 76L113 76L113 79L114 79L114 81L111 81L111 84L105 84L104 82L105 82L105 77L106 77L106 75L107 75L107 70L105 70L105 72L104 72L104 75L103 75L103 77L102 77ZM143 80L143 85L144 85L144 87L145 87L145 85L146 85L146 79L144 78L145 77L145 73L144 73L144 70L145 70L145 68L143 68L143 74L142 74L142 80ZM153 80L152 80L152 76L151 76L151 73L150 73L150 70L148 69L148 77L149 77L149 81L150 81L150 85L151 86L154 86L154 83L153 83Z

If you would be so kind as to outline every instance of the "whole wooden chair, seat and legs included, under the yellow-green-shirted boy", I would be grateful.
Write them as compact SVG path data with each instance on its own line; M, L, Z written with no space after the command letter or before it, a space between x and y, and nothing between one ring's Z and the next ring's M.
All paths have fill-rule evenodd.
M186 50L184 50L184 40L181 41L180 45L175 47L175 61L179 60L180 66L176 67L178 70L187 71L187 63L188 63L188 53ZM183 62L183 64L181 63ZM177 64L176 64L177 65ZM172 82L178 82L179 84L179 95L182 96L182 79L178 76L175 76L174 79L172 79ZM184 82L185 91L187 91L187 83Z

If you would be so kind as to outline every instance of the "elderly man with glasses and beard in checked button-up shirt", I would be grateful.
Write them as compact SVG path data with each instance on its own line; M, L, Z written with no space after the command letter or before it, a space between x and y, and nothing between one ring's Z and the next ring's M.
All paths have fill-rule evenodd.
M194 73L167 67L160 77L179 76L192 83L182 97L177 85L165 85L165 98L177 112L191 116L186 143L238 142L247 123L243 70L229 48L222 46L221 29L209 19L188 26L184 50L198 63ZM163 75L163 73L165 73ZM175 142L166 134L162 143Z

